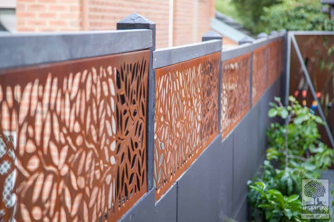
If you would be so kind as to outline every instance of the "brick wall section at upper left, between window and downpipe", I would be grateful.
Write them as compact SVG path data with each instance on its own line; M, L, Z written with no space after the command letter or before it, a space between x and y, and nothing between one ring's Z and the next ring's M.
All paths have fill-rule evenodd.
M16 0L18 32L81 30L81 0Z

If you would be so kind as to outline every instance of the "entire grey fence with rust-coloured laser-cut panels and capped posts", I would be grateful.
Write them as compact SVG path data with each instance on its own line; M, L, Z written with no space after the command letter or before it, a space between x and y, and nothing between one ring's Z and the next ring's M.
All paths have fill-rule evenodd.
M134 23L0 36L0 219L247 219L285 34L153 51L151 21L118 28Z

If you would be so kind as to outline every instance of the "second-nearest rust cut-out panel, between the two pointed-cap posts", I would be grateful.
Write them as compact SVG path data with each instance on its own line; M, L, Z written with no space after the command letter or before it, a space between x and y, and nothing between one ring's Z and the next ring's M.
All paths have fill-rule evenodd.
M155 72L156 200L218 134L219 64L217 52Z

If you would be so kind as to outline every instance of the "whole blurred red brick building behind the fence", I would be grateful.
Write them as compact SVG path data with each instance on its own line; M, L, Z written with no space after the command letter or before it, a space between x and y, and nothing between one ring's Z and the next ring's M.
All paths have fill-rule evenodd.
M137 12L156 23L157 48L201 41L215 8L215 0L6 1L16 5L17 32L115 30L117 21Z

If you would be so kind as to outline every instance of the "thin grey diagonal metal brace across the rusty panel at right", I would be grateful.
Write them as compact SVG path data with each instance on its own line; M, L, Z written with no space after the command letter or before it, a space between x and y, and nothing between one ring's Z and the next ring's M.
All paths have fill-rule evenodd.
M293 44L294 44L295 50L296 50L296 52L297 52L297 56L298 56L299 62L300 62L300 64L301 64L302 68L303 68L305 78L306 78L306 80L307 80L307 83L309 84L309 87L310 87L310 90L311 90L313 99L318 103L318 111L319 111L319 114L320 114L322 120L325 122L325 129L326 129L326 132L327 132L327 134L328 134L329 140L330 140L330 142L331 142L332 148L334 149L334 140L333 140L332 133L331 133L331 131L329 130L329 127L328 127L328 124L327 124L325 115L324 115L324 113L322 112L321 104L319 103L319 100L318 100L317 96L315 95L315 91L314 91L314 88L313 88L313 84L312 84L311 78L310 78L310 76L309 76L309 73L307 72L307 69L306 69L305 63L304 63L304 61L303 61L302 54L300 53L300 50L299 50L299 47L298 47L296 38L295 38L294 35L292 35L292 36L291 36L291 39L292 39L292 42L293 42Z

